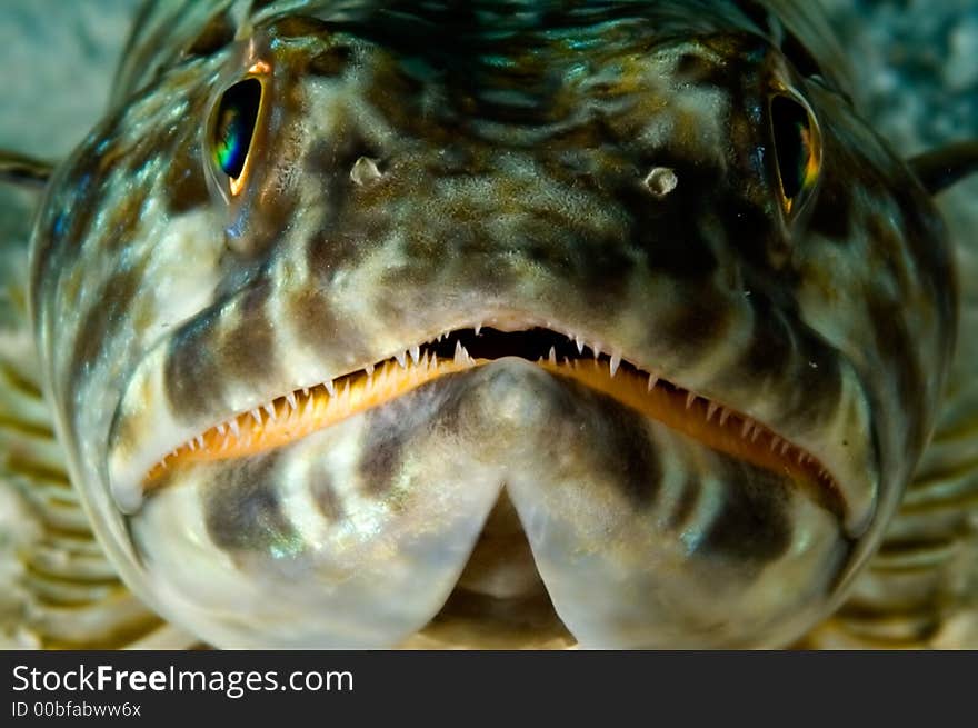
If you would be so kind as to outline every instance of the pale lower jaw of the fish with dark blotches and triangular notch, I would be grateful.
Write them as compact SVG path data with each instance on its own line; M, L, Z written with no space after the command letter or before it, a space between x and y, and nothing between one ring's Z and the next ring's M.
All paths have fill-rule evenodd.
M770 646L851 552L797 475L516 357L161 479L149 590L219 647Z

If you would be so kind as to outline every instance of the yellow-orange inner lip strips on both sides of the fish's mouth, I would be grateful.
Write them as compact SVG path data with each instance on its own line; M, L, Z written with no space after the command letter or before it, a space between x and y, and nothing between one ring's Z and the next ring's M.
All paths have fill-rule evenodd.
M379 407L446 375L491 363L463 351L455 359L425 353L418 361L388 360L376 370L358 371L329 386L290 392L231 417L181 445L147 475L143 490L161 485L168 469L191 462L230 460L257 455ZM602 392L642 415L703 445L820 489L837 490L831 475L800 447L764 425L727 407L677 388L633 368L612 371L590 359L537 362L546 371ZM617 367L616 367L617 368Z

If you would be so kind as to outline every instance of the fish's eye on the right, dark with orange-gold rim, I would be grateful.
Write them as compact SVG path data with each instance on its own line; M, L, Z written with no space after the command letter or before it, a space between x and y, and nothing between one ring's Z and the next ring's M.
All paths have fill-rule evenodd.
M771 131L781 185L781 205L794 213L805 203L821 169L821 140L808 108L778 94L770 102Z

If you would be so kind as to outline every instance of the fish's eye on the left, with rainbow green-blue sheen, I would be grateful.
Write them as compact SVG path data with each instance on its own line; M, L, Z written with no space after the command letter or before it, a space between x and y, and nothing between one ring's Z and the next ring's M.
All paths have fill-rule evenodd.
M228 176L231 195L237 195L244 186L260 107L261 82L247 78L223 92L214 112L211 154L217 168Z

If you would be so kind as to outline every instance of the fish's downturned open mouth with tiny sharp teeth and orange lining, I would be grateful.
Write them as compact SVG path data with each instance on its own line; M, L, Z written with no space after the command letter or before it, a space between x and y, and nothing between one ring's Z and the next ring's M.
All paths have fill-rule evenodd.
M158 487L169 469L282 447L436 379L507 357L526 359L556 377L597 390L715 450L786 473L822 507L839 517L844 513L844 498L832 473L768 426L602 351L600 343L542 327L453 329L337 379L288 391L179 445L147 472L143 492Z

